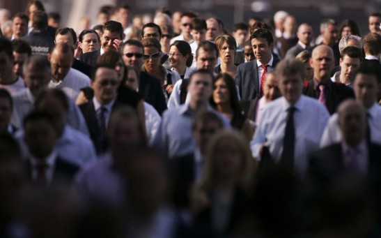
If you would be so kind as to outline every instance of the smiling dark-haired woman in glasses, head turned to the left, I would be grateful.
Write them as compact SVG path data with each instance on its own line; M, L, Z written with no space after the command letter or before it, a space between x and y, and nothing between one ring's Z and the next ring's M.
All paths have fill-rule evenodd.
M172 70L180 75L182 80L189 79L189 75L193 72L190 66L192 66L193 55L192 49L185 40L176 40L169 47L169 65Z

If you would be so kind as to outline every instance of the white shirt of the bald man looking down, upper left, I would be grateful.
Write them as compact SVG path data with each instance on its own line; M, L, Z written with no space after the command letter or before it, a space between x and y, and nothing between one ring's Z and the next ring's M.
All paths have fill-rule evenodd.
M73 100L77 99L79 91L90 87L90 78L75 68L70 68L68 74L60 82L50 80L49 88L62 89Z

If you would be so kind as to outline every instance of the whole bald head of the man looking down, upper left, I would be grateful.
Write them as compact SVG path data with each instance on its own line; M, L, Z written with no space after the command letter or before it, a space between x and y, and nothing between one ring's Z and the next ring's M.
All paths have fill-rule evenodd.
M48 57L52 67L52 79L56 82L62 81L72 66L74 58L72 46L66 43L57 43L52 54Z

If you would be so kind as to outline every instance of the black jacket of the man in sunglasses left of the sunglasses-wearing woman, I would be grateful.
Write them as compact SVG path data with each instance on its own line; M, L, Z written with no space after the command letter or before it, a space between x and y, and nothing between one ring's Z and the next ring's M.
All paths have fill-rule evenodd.
M143 96L146 103L153 105L159 114L166 110L166 101L160 85L160 80L141 71L139 80L139 93Z

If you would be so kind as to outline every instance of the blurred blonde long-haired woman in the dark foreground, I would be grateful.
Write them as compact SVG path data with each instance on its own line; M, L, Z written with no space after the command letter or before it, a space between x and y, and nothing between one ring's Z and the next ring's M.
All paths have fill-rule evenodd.
M229 235L251 196L254 159L237 131L219 131L210 140L203 176L192 193L194 231L205 237Z

